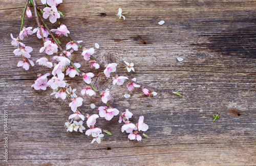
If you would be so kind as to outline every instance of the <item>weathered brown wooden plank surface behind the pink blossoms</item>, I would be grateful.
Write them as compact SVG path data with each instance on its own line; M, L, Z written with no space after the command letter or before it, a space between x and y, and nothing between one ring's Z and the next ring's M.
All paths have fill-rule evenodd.
M183 94L150 98L141 89L129 92L106 79L103 68L89 69L77 52L73 61L95 74L95 86L110 88L111 105L121 112L129 108L133 122L144 115L150 127L149 139L131 141L118 116L110 122L100 118L97 123L113 133L101 144L91 144L84 133L66 132L68 102L49 97L50 89L31 88L36 75L16 67L22 58L12 53L10 33L18 35L24 5L24 0L0 0L1 159L4 110L9 123L9 162L0 165L256 165L256 1L63 0L58 10L66 16L60 20L87 48L99 43L95 57L118 63L118 72L131 79ZM125 20L115 16L119 7L129 12ZM25 17L25 26L36 28L34 17ZM68 39L61 41L65 46ZM36 35L24 43L34 49L34 62L44 56ZM123 69L124 60L134 61L135 73ZM35 69L49 72L37 64ZM84 86L78 77L67 81L78 92ZM91 103L103 106L99 98L83 98L84 112L98 113Z

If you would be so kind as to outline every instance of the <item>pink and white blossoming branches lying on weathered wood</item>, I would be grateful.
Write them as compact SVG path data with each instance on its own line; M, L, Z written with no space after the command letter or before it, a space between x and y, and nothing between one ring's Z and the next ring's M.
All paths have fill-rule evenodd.
M71 121L65 123L67 131L72 132L79 130L79 132L82 133L83 130L86 130L86 127L83 126L83 122L87 119L86 124L89 129L86 131L86 135L92 135L94 137L92 143L94 143L94 141L100 143L101 138L104 136L102 132L112 135L110 131L103 129L98 124L96 125L96 119L99 117L103 117L106 121L110 121L116 115L120 116L118 122L124 123L124 125L121 127L121 131L126 131L126 133L129 133L129 139L136 139L139 141L142 139L141 135L148 138L148 136L144 133L148 129L148 126L144 123L144 116L139 117L138 123L132 123L131 121L129 121L129 118L131 118L133 115L132 112L126 109L125 112L121 113L118 109L111 106L111 104L109 103L110 90L107 88L102 91L94 87L92 84L94 74L91 72L82 72L82 70L79 69L81 65L72 61L72 57L74 56L73 53L81 49L81 56L83 56L84 60L89 61L91 69L99 69L100 67L102 67L104 68L103 73L106 78L110 78L111 75L113 76L113 85L123 85L124 82L127 82L126 87L129 91L132 91L134 88L144 87L142 88L143 93L151 97L156 96L157 92L161 91L173 93L178 96L181 96L181 94L178 91L170 91L148 86L137 82L136 78L129 79L126 76L118 74L116 71L116 66L118 65L117 63L107 64L96 59L93 56L95 49L86 49L85 47L81 46L79 44L81 41L75 40L71 36L68 28L60 22L59 18L61 15L63 15L63 13L58 11L56 7L58 6L58 4L62 3L62 0L41 0L41 3L44 4L44 9L38 7L35 3L35 0L26 1L26 5L22 14L22 22L18 37L14 38L11 34L11 44L17 47L17 49L15 49L13 53L16 56L20 56L23 58L23 61L19 61L17 66L22 66L25 70L31 68L38 77L34 84L31 85L31 87L35 90L46 90L47 87L50 87L53 90L50 96L54 96L55 98L60 98L62 100L67 99L69 102L69 106L73 111L73 114L69 116L69 120ZM24 26L25 12L29 18L32 17L31 8L34 9L35 21L37 23L37 28L34 29L32 27L26 28ZM122 14L125 13L122 13L122 10L119 8L117 17L119 19L121 17L125 19ZM51 23L58 22L57 29L50 30L48 28L44 20L48 18ZM41 66L47 67L51 73L46 73L42 75L41 73L37 72L33 67L35 65L34 62L29 59L31 58L30 53L33 51L33 49L30 46L26 46L22 40L25 37L28 37L29 35L32 35L34 33L36 33L37 38L42 39L42 44L44 45L39 50L39 53L45 53L45 57L39 58L36 63ZM49 35L50 38L48 38ZM65 49L62 49L62 43L59 40L59 38L63 37L70 38L70 42L65 45ZM99 49L99 44L96 43L95 47ZM55 61L56 63L53 63L53 61ZM126 64L125 69L127 69L128 72L135 72L133 62L128 63L124 61L124 63ZM66 75L68 75L70 78L78 76L81 78L81 80L83 80L84 88L82 88L80 91L82 96L84 96L85 94L90 97L98 96L101 99L102 103L105 104L105 106L98 107L98 114L90 115L79 108L80 106L82 106L83 98L78 97L76 94L76 89L72 89L65 80L65 70ZM48 80L47 77L50 75L52 75L52 77L50 80ZM150 91L147 88L155 91ZM129 96L126 95L125 97ZM91 105L91 108L95 108L95 105ZM78 122L78 120L80 121Z

